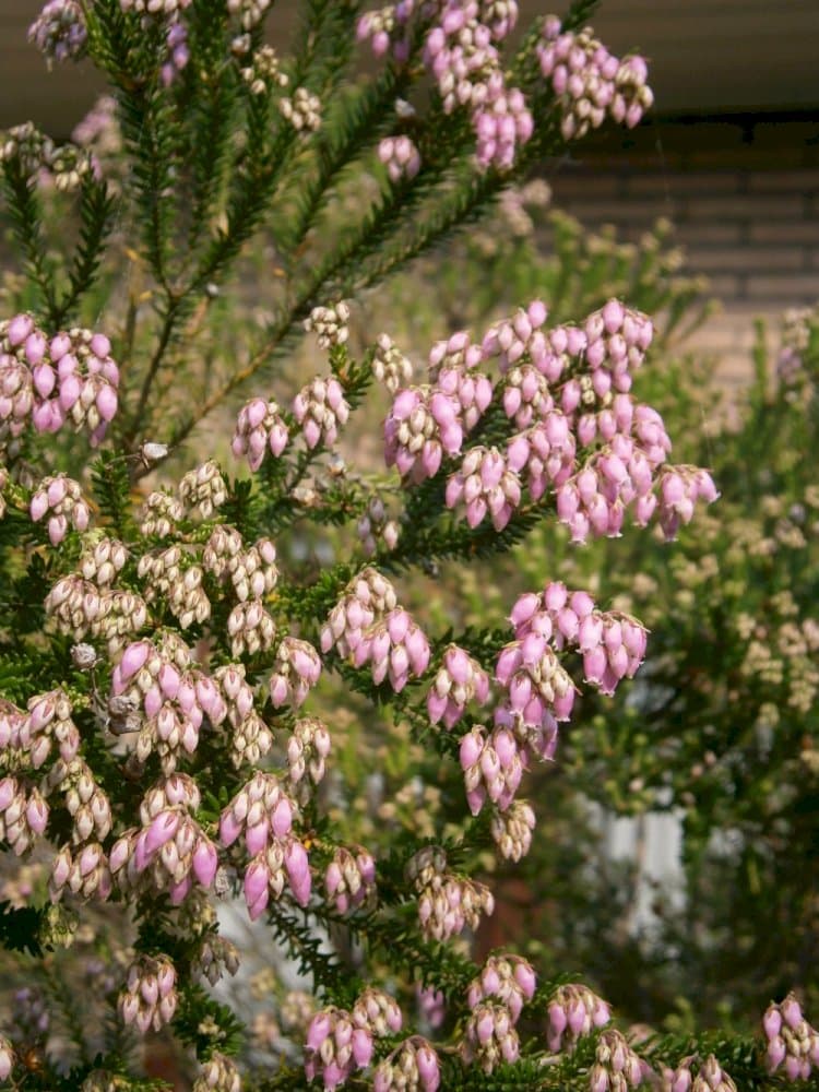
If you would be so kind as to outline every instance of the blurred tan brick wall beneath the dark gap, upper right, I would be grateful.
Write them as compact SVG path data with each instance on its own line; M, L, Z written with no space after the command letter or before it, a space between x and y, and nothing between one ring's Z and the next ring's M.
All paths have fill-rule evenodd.
M819 121L737 118L650 126L558 165L554 203L637 240L661 216L687 269L722 302L696 344L729 381L748 372L753 318L819 299Z

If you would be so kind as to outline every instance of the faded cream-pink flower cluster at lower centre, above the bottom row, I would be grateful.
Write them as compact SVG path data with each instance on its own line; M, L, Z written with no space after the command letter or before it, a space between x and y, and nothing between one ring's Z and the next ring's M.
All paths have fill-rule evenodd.
M476 929L480 914L491 914L495 900L483 883L447 868L447 854L426 846L411 857L406 878L418 895L418 922L428 940L449 940L468 926Z

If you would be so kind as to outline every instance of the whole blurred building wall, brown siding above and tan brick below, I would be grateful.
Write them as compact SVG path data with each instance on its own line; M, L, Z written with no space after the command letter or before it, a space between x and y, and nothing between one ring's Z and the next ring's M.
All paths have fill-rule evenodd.
M0 128L31 119L68 136L100 84L87 63L45 72L26 41L40 7L0 3ZM274 5L271 40L288 40L296 7ZM520 7L519 25L550 10ZM655 108L636 132L613 129L548 165L554 204L624 241L668 217L723 304L692 346L736 382L751 317L811 304L819 288L819 3L780 0L775 31L768 0L612 0L593 22L613 51L649 58Z

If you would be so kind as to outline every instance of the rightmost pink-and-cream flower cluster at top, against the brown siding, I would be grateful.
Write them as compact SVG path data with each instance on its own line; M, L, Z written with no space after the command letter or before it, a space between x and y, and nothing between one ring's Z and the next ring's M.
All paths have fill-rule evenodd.
M645 82L649 70L644 59L613 56L589 26L578 34L562 32L560 20L549 15L537 57L542 74L551 81L558 97L566 140L597 129L607 114L633 129L654 100Z

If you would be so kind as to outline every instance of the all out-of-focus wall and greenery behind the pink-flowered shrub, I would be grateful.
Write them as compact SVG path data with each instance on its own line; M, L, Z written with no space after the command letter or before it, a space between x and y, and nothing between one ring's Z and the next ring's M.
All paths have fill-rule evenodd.
M87 63L46 71L26 40L40 7L0 0L0 128L31 119L68 138L103 88ZM296 7L278 0L269 21L283 52ZM523 0L521 24L547 11L544 0ZM614 52L636 48L648 57L651 116L632 132L606 128L544 163L550 202L537 188L501 202L498 216L452 250L368 299L352 341L357 349L371 342L381 329L375 313L375 323L396 324L396 336L422 354L428 339L483 329L487 316L513 306L507 297L535 295L558 320L579 318L609 294L679 317L697 312L698 278L708 276L705 295L720 307L693 323L676 372L677 320L661 320L661 366L642 381L655 382L650 401L668 411L678 453L714 468L723 490L714 519L690 529L673 554L633 535L610 551L596 544L573 553L560 533L538 532L486 582L472 573L461 583L443 567L407 590L415 596L407 605L426 610L440 630L482 621L491 610L501 619L509 589L538 586L548 559L556 578L571 586L595 580L602 601L633 605L644 618L658 664L653 680L641 679L632 698L622 693L616 704L589 699L579 717L587 727L567 732L559 762L532 779L548 836L527 863L501 876L499 910L479 945L485 951L525 936L545 974L582 974L630 1020L676 1030L692 1026L696 1013L745 1028L769 994L781 997L808 981L819 937L819 880L809 865L819 830L819 751L811 741L819 733L815 703L794 697L810 670L819 686L817 649L804 656L783 651L785 642L794 645L793 619L809 625L819 595L819 490L802 458L819 413L816 405L804 416L799 410L817 389L816 319L810 344L803 337L807 319L798 319L788 349L812 360L812 378L805 378L807 365L805 376L796 368L772 400L774 356L762 360L756 380L752 367L755 320L779 328L784 311L819 296L819 0L781 0L775 19L769 0L604 0L593 25ZM522 207L531 221L519 230ZM585 233L553 210L577 217ZM658 219L670 227L656 233ZM257 278L248 275L249 292L264 283L272 235L251 254ZM634 246L620 250L624 244ZM307 363L297 357L288 367ZM735 430L721 431L717 388L735 404ZM370 453L380 458L377 448L365 462ZM320 545L308 544L319 562ZM748 618L757 629L747 628ZM779 681L759 668L763 645L775 664L784 662ZM387 727L373 733L388 740L381 750L380 739L376 746L341 723L348 696L331 690L324 700L334 732L342 739L348 733L342 772L352 781L352 768L371 761L382 778L375 818L366 800L359 808L345 799L333 815L349 823L352 839L369 844L379 833L389 839L412 829L419 815L430 823L447 818L448 800L460 800L460 774L427 770L429 793L419 798L407 769L420 758L405 756L404 769ZM225 924L242 948L260 947L262 972L235 987L254 1025L253 1049L280 1051L297 983L278 968L281 988L271 984L265 974L274 959L261 939L246 936L236 919ZM179 1078L177 1087L189 1084Z

